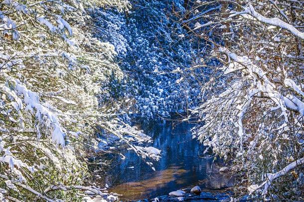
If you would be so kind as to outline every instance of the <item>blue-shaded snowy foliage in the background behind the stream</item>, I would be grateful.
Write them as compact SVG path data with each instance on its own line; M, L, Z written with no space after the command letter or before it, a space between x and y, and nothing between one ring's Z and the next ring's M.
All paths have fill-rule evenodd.
M116 89L109 97L132 98L134 117L153 120L184 112L197 102L199 81L184 71L196 55L178 21L181 0L131 0L126 13L101 9L92 17L96 36L111 41L127 77L106 87Z

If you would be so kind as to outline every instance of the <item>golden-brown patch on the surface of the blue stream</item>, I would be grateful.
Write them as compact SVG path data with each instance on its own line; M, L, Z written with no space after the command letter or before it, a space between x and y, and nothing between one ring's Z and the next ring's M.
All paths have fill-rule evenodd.
M155 176L148 180L140 182L130 182L120 184L113 187L109 192L118 193L123 195L120 197L121 200L138 200L151 197L150 194L153 190L159 189L165 186L171 181L175 181L179 176L186 173L184 169L173 166L166 170L156 171ZM182 179L179 179L178 183L182 184Z

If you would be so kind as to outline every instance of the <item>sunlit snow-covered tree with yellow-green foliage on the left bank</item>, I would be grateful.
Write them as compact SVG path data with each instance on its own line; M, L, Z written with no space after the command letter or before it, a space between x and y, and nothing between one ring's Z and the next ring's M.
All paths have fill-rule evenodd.
M134 145L150 138L122 122L119 101L100 104L101 88L123 72L114 46L94 37L95 7L129 2L4 0L0 2L0 200L80 200L79 192L115 199L88 185L87 158L103 129ZM153 150L155 151L155 150ZM83 195L81 195L83 196Z

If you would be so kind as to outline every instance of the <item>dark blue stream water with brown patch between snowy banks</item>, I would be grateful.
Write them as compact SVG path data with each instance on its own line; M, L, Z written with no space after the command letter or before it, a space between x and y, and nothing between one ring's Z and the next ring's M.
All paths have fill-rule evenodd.
M126 150L126 160L110 173L110 192L122 194L121 200L151 199L181 188L200 185L202 189L223 189L234 179L218 172L221 161L202 158L204 148L192 140L192 124L164 122L144 129L153 139L152 146L161 150L161 159L154 162L155 171L132 150ZM134 167L134 168L133 168Z

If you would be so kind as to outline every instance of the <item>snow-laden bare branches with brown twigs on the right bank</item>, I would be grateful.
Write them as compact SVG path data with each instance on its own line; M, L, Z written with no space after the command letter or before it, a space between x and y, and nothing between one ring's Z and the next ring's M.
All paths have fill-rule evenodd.
M213 73L202 88L206 100L193 111L200 117L193 135L243 165L250 194L258 191L266 198L296 200L304 194L303 173L299 177L304 164L303 13L298 0L198 0L182 20L207 44L208 58L200 65ZM294 180L294 189L288 189Z

